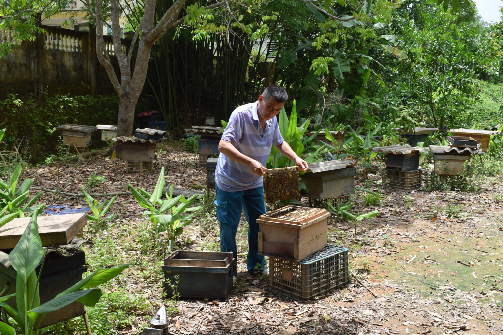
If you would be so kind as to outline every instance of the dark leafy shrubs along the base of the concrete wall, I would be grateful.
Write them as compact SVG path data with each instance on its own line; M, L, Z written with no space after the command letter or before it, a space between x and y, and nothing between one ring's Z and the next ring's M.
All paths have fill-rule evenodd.
M23 139L21 152L31 161L44 161L47 154L56 154L61 132L55 127L65 124L96 126L117 123L119 99L113 96L44 95L43 100L18 99L15 95L0 101L0 128L7 128L4 147ZM101 144L100 132L95 132ZM1 148L1 147L0 147Z

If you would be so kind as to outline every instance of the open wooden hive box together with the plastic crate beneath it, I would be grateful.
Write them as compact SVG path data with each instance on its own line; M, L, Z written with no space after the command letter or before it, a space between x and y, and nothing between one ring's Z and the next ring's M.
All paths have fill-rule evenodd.
M327 244L329 216L323 208L288 205L257 219L272 290L309 299L349 282L348 249Z

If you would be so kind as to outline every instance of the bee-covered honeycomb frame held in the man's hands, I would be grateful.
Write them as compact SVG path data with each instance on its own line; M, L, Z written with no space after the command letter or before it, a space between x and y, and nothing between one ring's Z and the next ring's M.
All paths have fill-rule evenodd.
M297 166L266 170L264 174L264 200L300 200L300 175Z

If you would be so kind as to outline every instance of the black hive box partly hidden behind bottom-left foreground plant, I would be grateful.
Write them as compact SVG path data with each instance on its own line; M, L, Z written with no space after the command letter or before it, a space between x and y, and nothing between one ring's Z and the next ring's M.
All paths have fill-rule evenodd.
M82 273L87 271L85 265L85 254L80 250L70 257L57 253L48 254L40 277L40 302L45 303L53 299L57 294L82 280ZM36 272L37 275L40 273L40 266ZM11 288L6 295L16 293L16 275L16 270L9 262L8 254L0 253L0 290L6 287L7 282L11 283ZM6 302L16 308L16 297L11 297ZM81 316L84 313L84 306L74 301L60 310L48 313L43 318L40 328ZM37 324L40 319L41 317L37 320Z

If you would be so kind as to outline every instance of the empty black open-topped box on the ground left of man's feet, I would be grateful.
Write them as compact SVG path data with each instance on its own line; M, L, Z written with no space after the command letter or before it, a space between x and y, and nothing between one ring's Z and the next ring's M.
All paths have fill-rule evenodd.
M165 281L179 281L177 292L183 298L225 299L232 290L232 265L232 253L176 251L164 259L162 271ZM167 282L164 291L173 296Z

